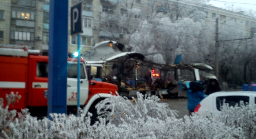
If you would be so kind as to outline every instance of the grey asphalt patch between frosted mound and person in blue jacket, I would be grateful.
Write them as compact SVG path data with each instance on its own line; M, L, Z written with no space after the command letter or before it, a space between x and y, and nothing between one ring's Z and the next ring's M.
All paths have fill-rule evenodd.
M177 98L177 99L167 99L167 100L161 100L159 103L167 103L168 107L171 108L171 110L177 110L178 119L183 118L185 115L188 115L188 99L187 98Z

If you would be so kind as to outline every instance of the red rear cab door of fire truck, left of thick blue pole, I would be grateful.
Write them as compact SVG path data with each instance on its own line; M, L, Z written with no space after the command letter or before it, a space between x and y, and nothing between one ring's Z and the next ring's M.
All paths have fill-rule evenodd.
M48 58L47 56L29 56L28 66L28 106L47 106Z

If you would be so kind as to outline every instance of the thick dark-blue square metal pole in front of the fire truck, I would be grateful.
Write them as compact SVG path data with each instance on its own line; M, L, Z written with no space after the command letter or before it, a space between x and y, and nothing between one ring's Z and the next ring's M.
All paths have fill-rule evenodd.
M68 1L50 0L47 116L66 113Z

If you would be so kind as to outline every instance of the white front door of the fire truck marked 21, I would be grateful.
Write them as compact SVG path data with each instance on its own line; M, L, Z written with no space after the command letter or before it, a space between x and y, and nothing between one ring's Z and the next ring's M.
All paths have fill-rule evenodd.
M80 105L88 99L89 81L85 64L80 65ZM77 105L77 62L68 62L67 105Z

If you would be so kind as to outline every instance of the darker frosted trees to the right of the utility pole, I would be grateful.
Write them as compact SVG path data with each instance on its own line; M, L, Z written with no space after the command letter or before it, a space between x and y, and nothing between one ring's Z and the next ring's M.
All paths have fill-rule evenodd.
M242 84L255 78L255 75L249 76L248 73L252 70L250 65L256 64L256 39L244 34L245 30L240 26L239 22L219 24L220 80L229 84Z

